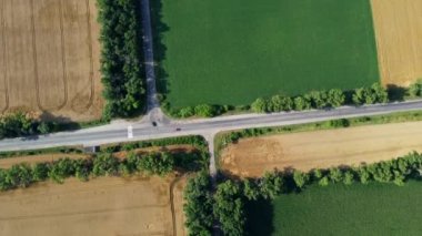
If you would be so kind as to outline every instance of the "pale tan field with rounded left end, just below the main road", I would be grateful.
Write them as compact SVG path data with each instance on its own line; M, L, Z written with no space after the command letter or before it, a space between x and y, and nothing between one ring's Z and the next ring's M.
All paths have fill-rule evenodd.
M422 122L369 125L240 140L221 153L223 171L259 177L265 171L310 171L391 160L422 152Z

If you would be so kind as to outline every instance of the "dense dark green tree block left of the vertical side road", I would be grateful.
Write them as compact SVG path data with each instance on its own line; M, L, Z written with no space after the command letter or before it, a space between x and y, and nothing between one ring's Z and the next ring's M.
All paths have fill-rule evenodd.
M127 117L144 106L138 0L97 0L101 24L103 116Z

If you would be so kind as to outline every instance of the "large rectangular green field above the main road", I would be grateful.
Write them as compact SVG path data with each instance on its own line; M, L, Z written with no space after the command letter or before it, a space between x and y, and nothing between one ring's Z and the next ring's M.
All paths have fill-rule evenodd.
M163 45L157 53L164 71L159 76L173 107L249 104L260 96L379 81L369 0L161 0L158 6L155 30Z

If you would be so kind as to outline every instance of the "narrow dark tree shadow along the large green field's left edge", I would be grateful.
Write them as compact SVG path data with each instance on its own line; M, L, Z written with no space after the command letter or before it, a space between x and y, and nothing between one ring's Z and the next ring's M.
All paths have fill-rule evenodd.
M170 27L162 20L162 0L154 0L150 3L151 8L151 23L152 23L152 37L153 37L153 50L155 61L155 80L157 90L163 99L169 93L169 74L162 66L162 62L165 60L167 47L163 42L165 32L170 31Z

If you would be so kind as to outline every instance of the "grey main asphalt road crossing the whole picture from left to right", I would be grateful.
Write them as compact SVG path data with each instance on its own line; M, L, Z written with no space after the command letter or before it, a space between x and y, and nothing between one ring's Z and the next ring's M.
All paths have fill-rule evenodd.
M152 126L145 122L121 122L74 132L61 132L26 138L9 138L0 142L0 151L22 151L54 146L99 145L115 142L154 140L181 135L213 136L221 131L247 127L280 126L326 121L342 117L370 116L394 112L422 110L422 101L378 104L370 106L343 106L333 110L289 112L273 114L231 115L191 121L171 121ZM128 137L128 126L133 137Z

